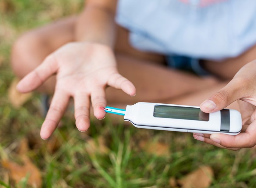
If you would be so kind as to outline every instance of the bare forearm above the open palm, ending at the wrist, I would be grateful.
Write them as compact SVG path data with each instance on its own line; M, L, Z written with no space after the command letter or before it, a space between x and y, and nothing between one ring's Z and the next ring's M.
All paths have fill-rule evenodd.
M117 0L86 0L84 11L76 24L76 40L113 47L116 4Z

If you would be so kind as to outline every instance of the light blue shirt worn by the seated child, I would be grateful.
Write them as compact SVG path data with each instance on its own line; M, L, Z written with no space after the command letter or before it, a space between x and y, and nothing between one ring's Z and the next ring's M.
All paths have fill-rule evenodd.
M116 22L130 30L135 48L166 55L223 59L256 44L256 0L205 7L179 0L119 0Z

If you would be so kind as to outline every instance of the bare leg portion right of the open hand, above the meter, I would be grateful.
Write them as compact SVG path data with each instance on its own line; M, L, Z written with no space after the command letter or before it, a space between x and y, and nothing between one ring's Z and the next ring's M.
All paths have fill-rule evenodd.
M219 82L211 77L199 77L129 55L117 54L116 57L120 74L134 84L137 95L130 97L121 90L108 88L107 100L111 103L166 102Z

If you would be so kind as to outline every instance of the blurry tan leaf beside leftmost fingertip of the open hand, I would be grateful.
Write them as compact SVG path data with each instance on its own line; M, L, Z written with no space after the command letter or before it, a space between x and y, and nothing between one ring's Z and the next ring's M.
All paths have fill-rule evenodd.
M20 108L28 99L32 96L32 93L20 93L17 91L16 86L19 80L14 79L8 90L8 98L12 106L15 108Z

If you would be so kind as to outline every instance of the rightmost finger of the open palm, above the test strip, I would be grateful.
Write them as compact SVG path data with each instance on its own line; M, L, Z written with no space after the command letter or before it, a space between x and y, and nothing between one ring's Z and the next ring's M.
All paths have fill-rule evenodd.
M130 96L136 95L136 88L132 82L120 75L119 73L113 74L108 80L108 85L116 89L122 89Z

